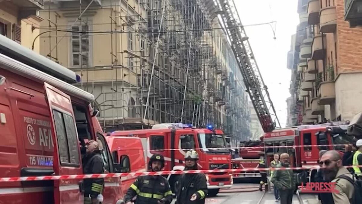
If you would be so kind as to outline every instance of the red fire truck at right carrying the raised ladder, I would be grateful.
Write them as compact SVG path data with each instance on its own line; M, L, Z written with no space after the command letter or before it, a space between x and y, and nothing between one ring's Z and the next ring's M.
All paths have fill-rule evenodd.
M263 142L266 148L262 148L262 150L260 149L260 147L255 148L259 148L259 150L261 150L260 154L265 156L267 166L269 166L270 162L273 160L274 154L290 154L291 166L311 168L311 171L309 171L309 175L310 180L313 181L313 175L316 172L316 168L319 166L319 151L337 150L342 155L344 153L344 146L308 147L308 145L352 144L355 139L353 136L349 136L347 134L348 124L348 121L328 122L318 125L301 125L273 130L264 134ZM293 145L305 145L306 147L273 148L273 146Z

